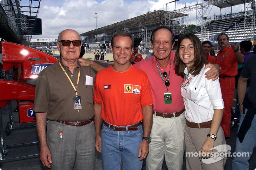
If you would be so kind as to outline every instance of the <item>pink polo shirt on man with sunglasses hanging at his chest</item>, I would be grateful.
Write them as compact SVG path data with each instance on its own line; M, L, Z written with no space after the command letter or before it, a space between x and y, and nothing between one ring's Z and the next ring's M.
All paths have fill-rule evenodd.
M168 92L172 93L172 103L164 103L164 93L166 93L166 86L159 74L159 71L156 67L156 57L152 56L147 60L142 60L139 63L134 64L135 67L143 70L148 75L152 97L153 97L153 110L159 113L173 113L178 112L184 108L183 99L181 97L181 87L180 84L183 83L183 78L177 76L174 70L174 55L175 52L171 52L171 57L166 68L162 68L159 63L158 67L163 74L164 70L169 74L170 70L170 61L172 59L172 65L170 70L170 86L168 87ZM164 78L166 80L166 78Z

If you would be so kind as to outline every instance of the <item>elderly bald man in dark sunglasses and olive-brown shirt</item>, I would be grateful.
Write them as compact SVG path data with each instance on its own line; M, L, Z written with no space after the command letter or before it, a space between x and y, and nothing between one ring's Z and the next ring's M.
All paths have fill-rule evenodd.
M57 46L60 61L41 71L36 83L33 110L40 159L52 170L94 170L95 73L80 67L81 36L75 30L62 31Z

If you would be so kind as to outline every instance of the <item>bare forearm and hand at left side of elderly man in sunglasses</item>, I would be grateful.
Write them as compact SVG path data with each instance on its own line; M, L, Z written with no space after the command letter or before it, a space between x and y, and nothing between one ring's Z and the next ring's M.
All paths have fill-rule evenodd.
M50 169L52 157L46 142L46 114L47 113L36 113L36 131L39 141L40 160L43 166L47 166Z

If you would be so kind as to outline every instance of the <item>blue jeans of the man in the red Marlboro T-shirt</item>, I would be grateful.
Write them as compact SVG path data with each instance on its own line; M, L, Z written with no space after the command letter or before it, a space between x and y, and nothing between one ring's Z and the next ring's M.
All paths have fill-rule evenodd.
M142 124L138 130L114 131L105 124L101 131L102 162L104 170L141 170L142 161L138 158L143 137Z

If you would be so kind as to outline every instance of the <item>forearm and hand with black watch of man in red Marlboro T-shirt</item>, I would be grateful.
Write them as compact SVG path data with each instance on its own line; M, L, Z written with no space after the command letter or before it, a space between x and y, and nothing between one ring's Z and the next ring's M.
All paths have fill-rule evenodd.
M150 137L150 132L153 123L153 105L143 106L142 107L142 115L143 115L143 137ZM142 154L141 154L142 152ZM149 152L148 141L142 140L139 147L138 158L140 160L147 158Z

